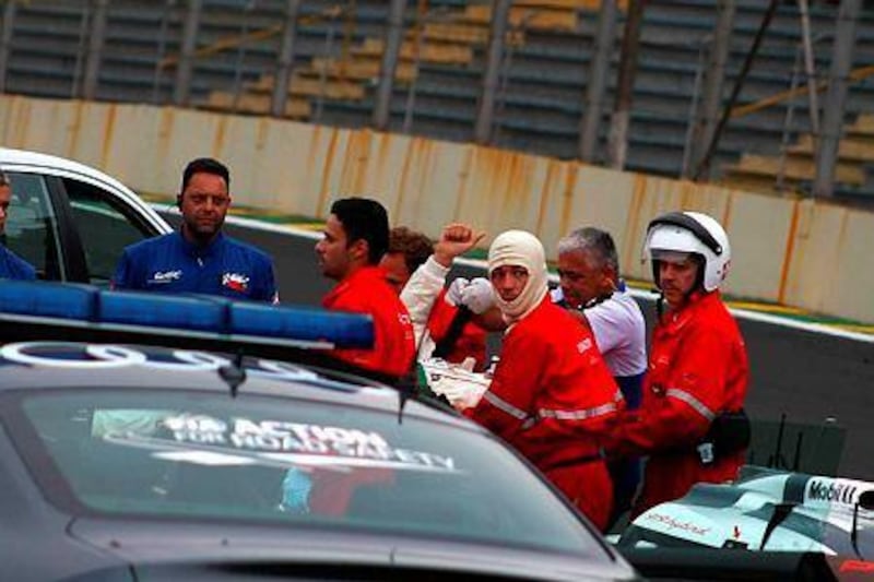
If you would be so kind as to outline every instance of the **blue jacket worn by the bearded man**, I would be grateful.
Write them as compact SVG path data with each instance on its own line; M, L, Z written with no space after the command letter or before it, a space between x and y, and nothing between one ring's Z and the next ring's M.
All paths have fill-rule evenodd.
M221 233L205 246L177 231L126 247L113 288L277 300L270 257Z

